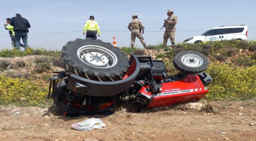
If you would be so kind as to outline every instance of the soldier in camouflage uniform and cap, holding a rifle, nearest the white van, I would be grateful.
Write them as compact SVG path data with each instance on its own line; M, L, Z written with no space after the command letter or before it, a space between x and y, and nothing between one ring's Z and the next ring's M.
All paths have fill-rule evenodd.
M175 31L178 17L173 14L173 10L168 10L167 15L169 16L165 21L165 34L163 34L163 43L166 45L168 38L170 38L172 44L175 44Z

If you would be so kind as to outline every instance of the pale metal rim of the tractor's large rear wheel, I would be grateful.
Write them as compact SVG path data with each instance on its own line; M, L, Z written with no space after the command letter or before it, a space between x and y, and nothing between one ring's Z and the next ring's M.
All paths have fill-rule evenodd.
M87 65L97 68L110 68L117 64L117 56L104 47L85 45L78 49L77 56Z

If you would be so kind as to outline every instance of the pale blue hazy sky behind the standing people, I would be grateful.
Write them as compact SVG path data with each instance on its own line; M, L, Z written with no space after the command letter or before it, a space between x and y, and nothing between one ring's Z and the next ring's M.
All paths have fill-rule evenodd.
M145 25L143 37L150 45L163 42L164 29L160 30L160 27L168 17L168 9L173 9L174 15L178 16L176 43L197 36L211 27L256 27L256 0L0 0L0 4L0 49L11 47L11 38L3 25L6 18L17 13L31 24L28 44L32 48L46 49L61 49L68 41L84 39L83 27L91 15L95 16L101 30L107 30L101 31L98 39L112 43L115 36L119 47L130 46L131 33L108 31L128 31L127 26L133 14L137 14ZM41 34L67 31L80 32ZM256 28L248 30L248 39L256 39ZM168 44L171 44L170 40ZM138 38L135 45L142 47Z

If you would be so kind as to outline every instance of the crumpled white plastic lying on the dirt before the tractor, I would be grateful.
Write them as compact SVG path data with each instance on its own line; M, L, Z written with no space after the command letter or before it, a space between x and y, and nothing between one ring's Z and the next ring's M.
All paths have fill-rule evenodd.
M76 130L90 131L92 129L101 129L102 127L106 127L106 124L103 123L101 119L90 118L82 122L74 123L72 124L72 127Z

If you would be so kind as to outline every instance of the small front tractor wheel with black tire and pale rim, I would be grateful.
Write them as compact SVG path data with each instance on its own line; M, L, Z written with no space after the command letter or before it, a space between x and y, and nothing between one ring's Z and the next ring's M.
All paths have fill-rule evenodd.
M204 72L209 67L208 58L197 51L183 51L178 53L173 59L173 65L186 74L198 74Z

